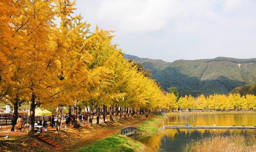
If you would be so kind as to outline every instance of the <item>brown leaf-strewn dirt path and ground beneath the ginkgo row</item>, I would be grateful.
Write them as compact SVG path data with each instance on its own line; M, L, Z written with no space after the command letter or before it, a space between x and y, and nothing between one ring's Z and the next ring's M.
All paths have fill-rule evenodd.
M154 117L152 115L149 115L150 118ZM106 118L108 120L109 118ZM118 118L115 121L111 121L114 125L107 124L107 123L101 123L99 125L96 125L96 119L93 119L93 125L90 126L88 124L82 124L82 127L79 129L74 129L73 126L70 124L70 126L67 127L67 131L64 130L65 123L62 123L62 131L55 132L56 128L52 128L48 125L48 132L42 133L41 135L44 135L45 137L53 140L59 145L64 146L64 149L57 149L55 147L52 147L50 145L47 145L46 143L42 143L42 141L39 141L36 138L29 138L26 136L27 129L25 129L24 133L23 131L20 132L12 132L11 131L11 125L5 125L2 126L2 129L0 130L0 137L5 137L6 134L9 134L9 137L16 137L16 136L24 136L24 138L19 138L19 141L12 141L12 140L2 140L1 142L4 142L4 145L2 144L2 151L12 151L18 148L24 149L25 152L27 150L36 151L38 148L34 147L34 145L44 145L44 151L51 151L51 152L73 152L74 150L81 149L83 147L86 147L95 141L102 140L104 138L108 138L112 136L113 134L120 134L120 131L124 127L136 127L136 125L141 124L148 118L143 117L142 115L138 115L135 117L127 117L127 118ZM78 122L80 123L80 122ZM16 130L16 129L15 129ZM36 133L35 133L36 134ZM22 141L22 139L25 139L29 141ZM16 144L16 143L22 143L22 144ZM33 144L31 144L33 143ZM26 145L27 144L27 145ZM0 144L1 145L1 144ZM70 145L70 146L68 146Z

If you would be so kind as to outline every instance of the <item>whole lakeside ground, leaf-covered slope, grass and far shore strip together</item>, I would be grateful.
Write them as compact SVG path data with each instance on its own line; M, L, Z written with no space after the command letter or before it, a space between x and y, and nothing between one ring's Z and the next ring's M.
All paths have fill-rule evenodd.
M59 132L55 132L50 128L50 131L43 133L44 137L62 145L64 147L63 149L57 149L37 138L30 138L27 135L10 136L9 138L4 139L4 134L4 136L0 136L0 148L3 152L95 152L96 150L99 152L148 152L150 149L159 149L162 137L161 133L159 133L159 127L161 127L163 120L170 115L189 116L237 113L255 114L256 111L185 111L165 113L165 116L149 115L149 118L138 115L135 117L119 118L118 120L109 121L109 123L93 124L92 126L83 125L79 129L74 129L70 126L67 127L67 130L62 129ZM136 134L143 134L145 136L156 134L153 145L151 143L151 145L145 146L139 141L120 135L120 129L127 126L136 127Z

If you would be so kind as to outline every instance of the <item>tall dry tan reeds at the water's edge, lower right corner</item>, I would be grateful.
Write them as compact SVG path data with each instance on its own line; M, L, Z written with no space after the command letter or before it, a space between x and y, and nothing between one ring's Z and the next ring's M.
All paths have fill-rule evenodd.
M183 152L256 152L256 136L212 136L187 143Z

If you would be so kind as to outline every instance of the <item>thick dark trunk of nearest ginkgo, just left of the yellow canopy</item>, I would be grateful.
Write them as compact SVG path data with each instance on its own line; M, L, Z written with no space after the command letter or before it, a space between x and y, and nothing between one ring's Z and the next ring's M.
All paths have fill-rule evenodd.
M28 135L34 138L34 111L37 106L37 103L35 103L36 100L36 94L32 92L31 94L31 100L30 100L30 119L29 119L29 133Z

